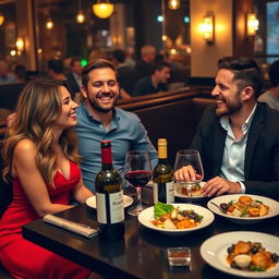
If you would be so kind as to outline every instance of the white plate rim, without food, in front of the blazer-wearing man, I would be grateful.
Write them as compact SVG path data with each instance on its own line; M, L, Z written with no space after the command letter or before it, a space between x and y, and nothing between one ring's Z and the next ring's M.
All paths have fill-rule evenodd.
M271 198L265 197L265 196L257 196L257 195L246 194L247 196L252 197L253 199L260 201L265 205L269 206L268 214L266 216L262 216L262 217L235 217L235 216L231 216L231 215L221 213L215 205L210 204L210 202L214 202L217 205L220 205L221 203L229 203L230 201L235 201L236 202L240 198L240 196L243 196L243 195L244 194L217 196L217 197L210 199L207 203L207 207L211 211L214 211L215 214L217 214L219 216L222 216L222 217L226 217L226 218L228 218L228 220L233 221L233 222L238 222L238 223L254 223L254 222L263 221L267 218L275 217L279 214L279 203L276 202L275 199L271 199Z

